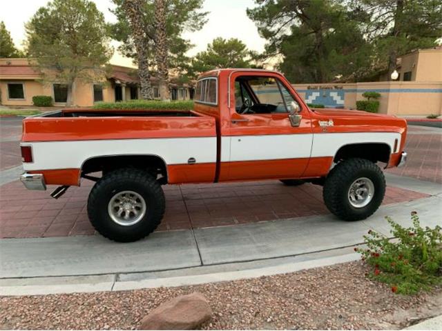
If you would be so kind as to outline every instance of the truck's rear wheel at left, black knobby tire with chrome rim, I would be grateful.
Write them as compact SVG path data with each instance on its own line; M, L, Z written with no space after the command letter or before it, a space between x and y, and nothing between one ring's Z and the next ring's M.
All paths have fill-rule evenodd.
M148 172L124 168L108 172L88 198L88 216L95 230L114 241L137 241L160 224L165 209L160 183Z

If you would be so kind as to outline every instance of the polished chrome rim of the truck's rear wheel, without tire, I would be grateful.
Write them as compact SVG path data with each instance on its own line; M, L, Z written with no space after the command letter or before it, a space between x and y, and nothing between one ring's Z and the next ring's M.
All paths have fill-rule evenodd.
M115 194L108 203L111 219L123 226L134 225L146 214L146 201L137 192L123 191Z

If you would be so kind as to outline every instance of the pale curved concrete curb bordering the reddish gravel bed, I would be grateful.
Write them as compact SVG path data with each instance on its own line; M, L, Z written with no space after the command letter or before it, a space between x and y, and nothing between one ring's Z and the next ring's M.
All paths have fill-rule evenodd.
M281 263L279 265L272 265L264 268L251 268L231 272L213 272L208 274L188 274L177 277L151 278L152 276L147 274L146 278L136 281L121 281L119 280L117 274L106 274L96 277L61 277L61 279L58 277L48 277L45 279L7 279L6 282L3 281L3 283L6 284L0 286L0 295L17 296L77 292L104 292L198 285L204 283L235 281L238 279L250 279L275 274L297 272L300 270L320 268L337 263L356 261L359 259L359 257L359 254L352 253L308 261ZM186 270L182 270L182 272L186 273ZM36 283L30 283L32 281ZM15 283L28 284L14 285Z

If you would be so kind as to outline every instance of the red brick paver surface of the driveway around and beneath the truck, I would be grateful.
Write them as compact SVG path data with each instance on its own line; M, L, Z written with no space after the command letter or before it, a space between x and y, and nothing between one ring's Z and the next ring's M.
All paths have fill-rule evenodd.
M18 147L21 121L0 119L0 129L1 170L6 170L21 162ZM407 167L392 172L441 182L440 134L411 127L407 152L410 154ZM80 188L70 188L58 200L50 198L48 191L28 191L19 181L1 185L0 237L93 234L86 214L86 201L92 185L92 182L84 180ZM164 192L166 214L158 230L233 225L327 213L322 188L311 184L287 187L278 181L257 181L166 185ZM389 187L384 203L411 201L425 196Z

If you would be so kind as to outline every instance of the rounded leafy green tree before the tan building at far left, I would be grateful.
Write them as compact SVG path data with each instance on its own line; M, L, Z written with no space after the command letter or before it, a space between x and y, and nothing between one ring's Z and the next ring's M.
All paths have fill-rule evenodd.
M26 24L30 63L44 81L68 86L67 106L75 104L77 81L104 81L113 53L104 15L88 0L53 0Z

